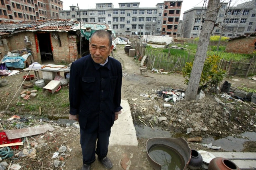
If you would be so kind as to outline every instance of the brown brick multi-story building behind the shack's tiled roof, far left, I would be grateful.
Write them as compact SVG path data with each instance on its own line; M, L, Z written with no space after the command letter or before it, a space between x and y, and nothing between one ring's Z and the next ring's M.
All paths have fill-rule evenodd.
M58 19L60 10L60 0L1 0L0 21Z

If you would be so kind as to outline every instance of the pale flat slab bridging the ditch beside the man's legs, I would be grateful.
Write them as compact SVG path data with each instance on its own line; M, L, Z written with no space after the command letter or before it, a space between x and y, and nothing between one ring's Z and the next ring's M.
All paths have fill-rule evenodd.
M138 140L128 101L122 99L121 106L123 107L122 113L119 114L118 119L114 122L114 125L111 128L109 145L138 146Z

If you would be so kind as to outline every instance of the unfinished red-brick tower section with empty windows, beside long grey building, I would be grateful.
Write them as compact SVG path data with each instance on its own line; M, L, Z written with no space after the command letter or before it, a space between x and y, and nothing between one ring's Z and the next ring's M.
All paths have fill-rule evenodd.
M162 35L177 37L182 1L164 1Z

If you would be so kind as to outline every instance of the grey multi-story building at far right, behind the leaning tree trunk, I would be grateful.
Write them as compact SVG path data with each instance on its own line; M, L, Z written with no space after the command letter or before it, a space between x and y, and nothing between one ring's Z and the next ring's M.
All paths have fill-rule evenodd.
M199 37L207 9L205 7L194 7L183 14L181 35L185 38ZM225 37L237 37L251 34L256 31L256 0L249 1L229 7L228 3L222 3L216 19L217 27L213 35Z

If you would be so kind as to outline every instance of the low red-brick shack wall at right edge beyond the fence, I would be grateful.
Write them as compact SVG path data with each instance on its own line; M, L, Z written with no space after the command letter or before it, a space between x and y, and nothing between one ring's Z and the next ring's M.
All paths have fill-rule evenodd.
M253 38L240 38L228 41L226 46L226 52L234 52L240 54L252 54L255 50L255 39L256 36Z

